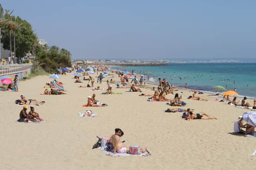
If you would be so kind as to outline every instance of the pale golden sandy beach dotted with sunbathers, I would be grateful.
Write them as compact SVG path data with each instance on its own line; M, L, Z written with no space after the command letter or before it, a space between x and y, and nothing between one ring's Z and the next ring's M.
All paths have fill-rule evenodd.
M256 157L251 154L256 150L256 138L230 134L234 120L248 109L216 102L208 94L200 95L208 102L188 100L192 92L180 90L187 103L184 108L193 108L196 113L205 111L218 118L186 121L181 118L181 112L165 113L167 108L174 108L166 102L148 102L148 97L138 96L139 92L125 92L127 88L117 89L115 85L113 92L122 95L92 92L91 88L78 88L86 86L88 81L74 83L72 77L71 73L61 76L66 95L40 95L45 83L51 80L48 76L20 82L19 92L0 91L0 169L255 169ZM106 80L110 78L104 78L102 84L95 81L94 87L106 89ZM120 83L118 76L112 79ZM154 94L150 88L142 91ZM82 107L93 93L108 106ZM16 122L22 106L14 101L20 95L46 102L35 106L44 119L42 123ZM167 98L173 99L174 95L168 94ZM246 102L253 104L249 99ZM78 116L78 112L87 109L97 113L96 117ZM115 128L124 131L122 140L126 146L148 147L154 156L112 157L92 149L96 136L109 137Z

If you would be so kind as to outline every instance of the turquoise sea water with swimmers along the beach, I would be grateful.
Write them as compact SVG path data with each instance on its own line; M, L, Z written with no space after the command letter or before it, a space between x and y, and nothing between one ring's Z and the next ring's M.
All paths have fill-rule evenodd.
M225 92L237 89L239 96L256 98L256 63L172 63L168 66L112 67L144 76L148 82L158 84L158 78L166 78L169 84L206 92ZM149 76L149 79L148 79ZM139 75L137 76L139 79ZM212 79L212 80L211 80ZM234 83L235 81L235 83ZM223 86L226 90L216 90ZM227 86L227 87L226 87Z

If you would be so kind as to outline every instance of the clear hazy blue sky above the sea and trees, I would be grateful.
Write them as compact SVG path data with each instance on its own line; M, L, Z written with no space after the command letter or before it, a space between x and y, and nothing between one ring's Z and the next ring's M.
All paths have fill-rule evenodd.
M74 59L256 58L256 0L4 0Z

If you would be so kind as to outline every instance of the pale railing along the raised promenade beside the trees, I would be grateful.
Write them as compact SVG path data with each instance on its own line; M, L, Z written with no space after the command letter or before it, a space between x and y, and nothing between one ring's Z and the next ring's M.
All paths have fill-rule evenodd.
M8 74L15 74L18 72L23 72L32 67L32 63L29 64L3 64L0 65L0 76L5 76Z

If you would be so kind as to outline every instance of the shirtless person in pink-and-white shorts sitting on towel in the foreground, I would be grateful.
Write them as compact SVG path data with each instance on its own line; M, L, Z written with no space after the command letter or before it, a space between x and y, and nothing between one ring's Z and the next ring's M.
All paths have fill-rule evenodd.
M116 152L130 153L130 148L126 147L124 143L120 140L120 137L122 137L123 135L124 135L124 132L121 129L116 128L115 134L110 137L110 141L109 141L111 144L110 150L112 150L112 148L114 147L114 154L116 154ZM140 152L144 153L147 150L148 150L147 147L145 147L144 149L140 149Z

